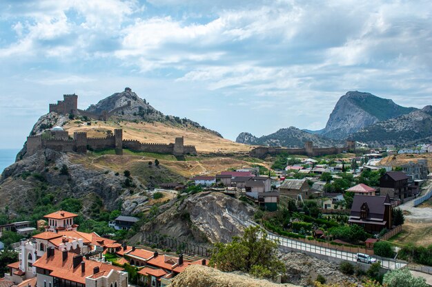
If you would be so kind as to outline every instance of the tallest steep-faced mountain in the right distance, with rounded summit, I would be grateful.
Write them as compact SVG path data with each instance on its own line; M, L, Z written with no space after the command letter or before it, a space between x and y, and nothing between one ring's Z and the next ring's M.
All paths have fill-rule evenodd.
M337 101L321 134L327 138L343 140L360 129L411 111L415 111L415 108L402 107L393 100L370 93L347 92Z

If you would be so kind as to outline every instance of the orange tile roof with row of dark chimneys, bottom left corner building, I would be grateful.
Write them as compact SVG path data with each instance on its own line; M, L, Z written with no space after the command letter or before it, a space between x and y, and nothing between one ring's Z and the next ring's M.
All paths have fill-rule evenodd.
M68 258L63 262L63 256L61 251L57 249L54 250L54 255L47 257L48 252L45 253L41 258L39 258L33 266L48 269L52 272L50 275L52 277L58 277L61 279L66 279L81 284L86 284L86 277L93 275L93 268L99 267L100 272L104 274L110 273L110 270L124 270L124 268L113 266L106 263L95 262L92 260L87 260L83 257L82 261L85 262L85 272L81 272L81 264L73 268L73 257L75 253L68 253Z

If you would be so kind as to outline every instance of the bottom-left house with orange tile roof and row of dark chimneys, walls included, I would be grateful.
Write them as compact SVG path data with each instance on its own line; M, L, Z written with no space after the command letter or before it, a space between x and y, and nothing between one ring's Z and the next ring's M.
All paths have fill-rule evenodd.
M37 286L128 287L124 268L55 248L48 248L33 266L37 270Z

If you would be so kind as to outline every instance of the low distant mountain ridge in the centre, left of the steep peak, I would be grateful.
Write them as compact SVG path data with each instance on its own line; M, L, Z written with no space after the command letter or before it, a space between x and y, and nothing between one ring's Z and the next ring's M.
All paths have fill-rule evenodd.
M338 140L324 138L317 134L309 134L296 127L279 129L275 133L261 138L243 132L235 140L235 142L246 145L266 145L270 147L304 147L304 142L307 141L313 141L313 145L317 147L335 147L341 144Z

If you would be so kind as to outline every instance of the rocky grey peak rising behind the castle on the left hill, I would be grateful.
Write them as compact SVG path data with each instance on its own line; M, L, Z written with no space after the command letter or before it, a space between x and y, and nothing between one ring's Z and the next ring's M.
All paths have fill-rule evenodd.
M120 120L172 123L185 127L197 127L211 131L216 136L222 138L222 135L217 131L206 129L206 127L202 127L193 120L162 114L161 111L152 107L145 98L140 98L135 92L132 92L130 88L126 88L124 92L115 93L103 100L99 100L99 103L90 105L86 111L93 114L107 112L108 116Z

